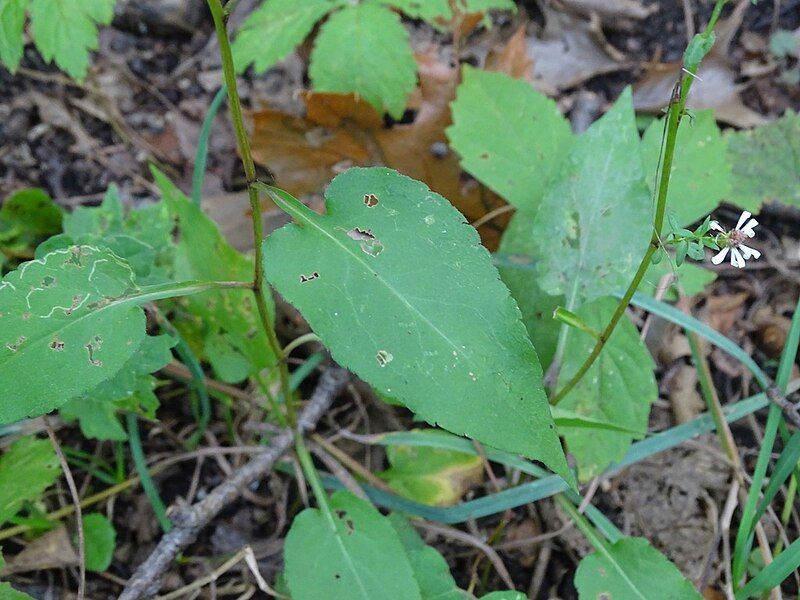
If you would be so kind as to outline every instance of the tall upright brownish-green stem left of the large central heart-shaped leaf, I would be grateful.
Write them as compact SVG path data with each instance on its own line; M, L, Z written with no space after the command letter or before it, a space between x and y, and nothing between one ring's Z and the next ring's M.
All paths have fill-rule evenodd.
M222 73L225 78L225 87L228 90L228 108L231 112L231 121L233 123L233 131L236 136L236 146L239 149L239 155L242 158L242 165L244 166L244 174L247 179L247 191L250 198L250 215L253 219L253 239L255 240L255 273L253 278L253 291L256 296L256 305L258 306L258 314L261 318L261 324L264 327L264 332L267 335L267 341L272 348L273 354L278 360L278 372L281 380L281 390L283 392L283 401L286 406L286 413L289 417L289 422L294 425L296 423L296 415L294 407L292 406L291 393L289 389L289 368L283 357L283 350L278 336L275 333L275 328L272 325L269 310L267 309L267 302L264 297L264 263L262 259L261 241L264 239L264 224L261 220L261 203L258 198L258 190L252 184L256 181L256 167L253 162L253 154L250 151L250 140L247 137L247 132L244 127L244 117L242 116L242 102L239 98L239 89L236 87L236 69L233 65L233 54L231 53L231 43L228 39L228 30L226 27L228 13L222 8L220 0L208 0L208 8L211 11L211 16L214 19L214 29L217 33L217 41L219 42L219 53L222 59Z

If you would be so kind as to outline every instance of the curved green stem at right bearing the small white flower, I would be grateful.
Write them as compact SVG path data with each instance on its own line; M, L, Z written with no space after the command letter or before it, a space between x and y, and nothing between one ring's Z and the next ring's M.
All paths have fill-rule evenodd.
M717 24L717 20L719 19L722 7L726 2L727 0L717 0L717 4L714 6L714 12L711 15L711 19L709 19L708 25L706 26L705 35L709 35L713 31L714 26ZM694 73L697 71L697 67L698 65L688 65L687 70L691 73ZM622 315L625 314L625 309L628 307L633 294L636 292L636 289L641 284L647 269L650 267L650 262L653 258L653 255L659 248L661 248L661 230L664 226L664 214L666 213L667 209L667 193L669 192L669 183L672 176L672 161L675 158L675 146L678 140L678 128L680 126L681 119L683 118L684 111L686 110L686 100L689 96L689 90L694 83L694 79L695 78L691 75L689 77L681 76L675 87L675 91L680 91L680 94L670 100L669 112L667 114L666 139L664 142L664 153L661 162L661 173L658 183L658 195L656 199L656 213L653 221L653 235L650 238L650 245L648 246L644 257L642 257L642 261L639 263L639 268L636 270L636 275L633 276L633 280L628 286L628 289L625 291L625 294L622 296L622 299L619 301L619 304L617 304L617 309L614 311L614 314L612 315L608 325L597 339L594 348L592 348L592 352L583 362L581 367L575 372L572 378L564 385L564 387L562 387L550 399L550 403L553 405L558 404L564 399L564 396L566 396L572 390L572 388L578 384L578 382L586 375L591 366L594 364L594 361L597 360L597 357L600 356L600 352L603 351L603 348L611 337L611 334L614 332L614 329L617 327Z

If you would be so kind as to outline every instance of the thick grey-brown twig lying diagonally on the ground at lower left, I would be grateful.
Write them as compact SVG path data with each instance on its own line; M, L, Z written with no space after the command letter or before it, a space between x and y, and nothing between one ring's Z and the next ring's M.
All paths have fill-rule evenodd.
M301 433L314 429L317 421L328 409L333 399L347 383L347 371L340 368L328 369L323 373L314 394L300 415L297 427ZM291 431L284 431L273 438L269 447L220 485L215 487L203 500L191 507L178 508L171 516L174 527L165 534L150 556L147 557L131 576L119 600L139 600L152 598L161 584L161 578L177 554L191 544L219 512L230 505L252 482L267 473L294 442Z

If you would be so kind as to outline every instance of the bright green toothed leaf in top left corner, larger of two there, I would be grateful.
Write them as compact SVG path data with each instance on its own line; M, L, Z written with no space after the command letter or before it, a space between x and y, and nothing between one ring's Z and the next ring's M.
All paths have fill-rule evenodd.
M39 52L75 79L86 77L97 25L108 25L114 0L31 0L31 33Z

